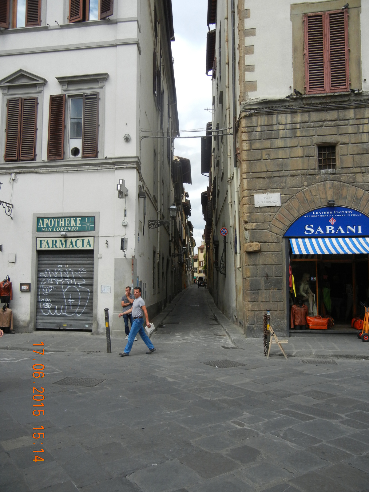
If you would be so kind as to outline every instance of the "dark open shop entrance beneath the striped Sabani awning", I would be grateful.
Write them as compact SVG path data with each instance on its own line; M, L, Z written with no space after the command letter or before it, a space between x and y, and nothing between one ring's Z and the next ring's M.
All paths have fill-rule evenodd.
M289 293L290 313L292 306L302 301L309 315L312 316L316 309L316 314L334 318L335 324L329 329L331 333L357 333L351 328L351 320L355 316L364 318L361 303L369 301L368 255L347 254L344 258L329 255L327 258L327 255L292 254L291 269L295 291L290 289ZM297 332L294 328L290 321L293 333Z

